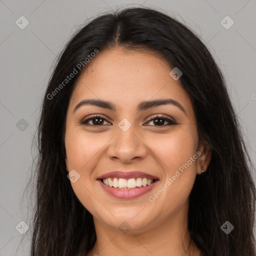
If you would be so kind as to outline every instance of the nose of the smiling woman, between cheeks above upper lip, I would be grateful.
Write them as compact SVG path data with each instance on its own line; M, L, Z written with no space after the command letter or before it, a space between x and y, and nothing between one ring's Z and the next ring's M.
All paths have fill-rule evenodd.
M117 128L117 133L110 140L111 143L107 148L107 156L123 163L144 158L147 153L146 145L136 133L138 132L133 129L132 125L126 131Z

